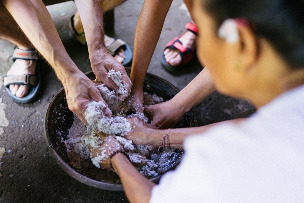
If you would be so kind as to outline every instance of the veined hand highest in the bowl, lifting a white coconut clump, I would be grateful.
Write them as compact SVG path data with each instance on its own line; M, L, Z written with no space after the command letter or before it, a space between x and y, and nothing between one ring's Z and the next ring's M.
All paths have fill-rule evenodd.
M114 81L107 76L110 70L115 70L120 72L122 75L123 84L126 86L126 90L130 92L132 87L132 82L127 75L125 67L121 65L116 59L111 56L106 48L95 50L90 53L90 61L94 74L110 89L117 91L118 86ZM126 95L121 95L120 100L124 100Z

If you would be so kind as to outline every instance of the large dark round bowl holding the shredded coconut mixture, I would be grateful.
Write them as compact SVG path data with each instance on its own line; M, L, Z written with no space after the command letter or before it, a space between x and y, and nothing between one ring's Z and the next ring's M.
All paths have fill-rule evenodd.
M126 70L129 74L130 69ZM95 75L92 71L86 73L86 75L92 80L95 79ZM179 90L170 82L165 81L156 75L147 73L144 80L144 91L150 94L156 93L158 96L161 96L164 101L167 101L176 95ZM65 91L62 88L51 100L45 116L45 137L50 146L51 154L53 154L63 170L76 180L103 190L123 191L121 184L115 184L113 182L114 180L119 180L115 173L98 169L95 166L90 170L82 171L76 169L71 164L66 152L65 144L61 139L67 139L73 120L73 113L68 109ZM197 126L197 117L194 111L191 110L186 113L184 119L179 124L179 128L194 126ZM175 149L175 152L175 156L170 159L171 161L163 168L164 172L174 169L181 161L184 155L183 150ZM157 182L160 177L161 175L158 175L150 178L150 180Z

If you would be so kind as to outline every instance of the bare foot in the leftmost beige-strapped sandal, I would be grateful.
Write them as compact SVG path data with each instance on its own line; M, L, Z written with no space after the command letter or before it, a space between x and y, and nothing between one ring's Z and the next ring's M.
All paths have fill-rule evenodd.
M35 74L37 61L36 60L22 60L16 59L12 67L8 70L6 75L23 75ZM29 86L26 85L10 85L9 90L13 95L24 97L29 92Z

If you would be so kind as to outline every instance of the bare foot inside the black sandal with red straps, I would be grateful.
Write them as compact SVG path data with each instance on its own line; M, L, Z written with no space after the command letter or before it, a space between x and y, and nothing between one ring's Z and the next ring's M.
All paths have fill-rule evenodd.
M197 36L193 34L191 31L187 30L185 34L183 34L179 40L183 44L183 47L189 48L194 51L196 45ZM167 48L164 51L166 62L172 66L178 66L181 64L181 55L179 54L179 50Z

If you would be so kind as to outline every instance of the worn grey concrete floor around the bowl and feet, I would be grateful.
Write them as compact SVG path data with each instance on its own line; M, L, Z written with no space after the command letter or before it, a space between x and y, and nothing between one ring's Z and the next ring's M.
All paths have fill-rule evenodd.
M144 0L128 0L115 9L115 36L133 49L134 31ZM85 46L68 37L68 22L75 13L74 2L48 7L71 58L83 71L91 70ZM175 0L165 21L148 71L182 89L201 70L194 62L186 71L172 75L161 67L165 44L181 34L190 21L182 0ZM62 87L54 71L42 67L42 91L37 101L18 104L7 94L3 77L12 65L14 45L0 40L0 202L127 202L123 192L99 190L66 174L48 152L44 137L45 112L50 100ZM245 102L214 93L195 107L200 125L232 119L251 109Z

